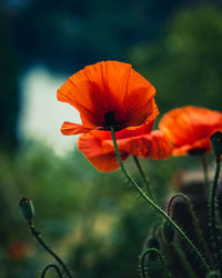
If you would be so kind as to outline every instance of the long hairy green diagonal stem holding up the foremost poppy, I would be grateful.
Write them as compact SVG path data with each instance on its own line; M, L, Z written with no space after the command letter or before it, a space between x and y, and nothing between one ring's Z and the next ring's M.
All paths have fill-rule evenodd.
M130 177L130 175L128 173L128 171L125 170L125 168L123 166L123 162L122 162L122 159L121 159L121 156L120 156L120 151L118 149L117 139L115 139L115 135L114 135L114 128L110 127L110 129L111 129L112 140L113 140L113 145L114 145L115 153L117 153L117 157L118 157L118 161L120 163L121 170L124 173L125 178L130 181L130 183L138 191L138 193L141 196L141 198L143 200L145 200L145 202L148 202L155 211L158 211L160 216L162 216L167 221L169 221L173 226L173 228L178 231L178 234L186 241L186 244L190 246L190 248L194 251L196 257L200 259L201 264L204 266L206 272L209 272L210 271L209 265L205 262L204 258L201 256L200 251L195 248L195 246L189 239L189 237L180 229L180 227L158 205L155 205L155 202L153 202L145 195L145 192Z

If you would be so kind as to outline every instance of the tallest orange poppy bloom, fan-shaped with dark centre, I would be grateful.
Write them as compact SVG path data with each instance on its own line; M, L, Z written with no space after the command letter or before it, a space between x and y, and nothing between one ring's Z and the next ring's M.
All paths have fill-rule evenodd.
M115 130L138 127L159 113L154 87L131 64L102 61L71 76L58 90L58 100L80 112L82 125L64 121L63 135L85 133L92 129Z

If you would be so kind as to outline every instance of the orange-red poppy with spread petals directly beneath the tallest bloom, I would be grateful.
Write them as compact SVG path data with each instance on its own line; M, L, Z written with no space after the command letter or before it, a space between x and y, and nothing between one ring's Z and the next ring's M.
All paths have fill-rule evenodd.
M122 129L115 132L118 147L125 160L129 156L164 159L172 153L172 146L161 130L151 131L153 122L137 129ZM82 135L78 141L79 150L100 171L119 168L110 131L92 130Z

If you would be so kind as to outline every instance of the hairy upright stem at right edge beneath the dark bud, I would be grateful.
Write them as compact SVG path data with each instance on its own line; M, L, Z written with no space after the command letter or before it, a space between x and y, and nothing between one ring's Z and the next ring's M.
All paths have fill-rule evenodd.
M216 214L216 188L219 183L219 177L220 177L220 167L221 167L221 158L220 156L216 158L216 167L215 167L215 173L213 178L213 185L211 187L211 195L210 195L210 216L211 216L211 232L213 238L213 246L216 252L220 275L222 277L222 262L221 262L221 250L220 250L220 242L219 242L219 235L216 230L216 221L215 221L215 214Z

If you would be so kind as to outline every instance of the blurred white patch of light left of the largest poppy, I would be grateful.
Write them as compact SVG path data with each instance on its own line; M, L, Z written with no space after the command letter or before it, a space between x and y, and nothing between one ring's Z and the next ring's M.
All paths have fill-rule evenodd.
M81 122L79 112L72 106L57 100L57 89L65 79L50 73L43 67L34 67L21 81L20 138L41 140L51 146L58 155L72 151L78 138L62 136L62 122Z

